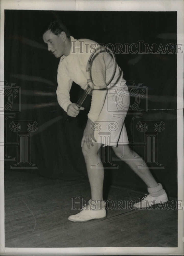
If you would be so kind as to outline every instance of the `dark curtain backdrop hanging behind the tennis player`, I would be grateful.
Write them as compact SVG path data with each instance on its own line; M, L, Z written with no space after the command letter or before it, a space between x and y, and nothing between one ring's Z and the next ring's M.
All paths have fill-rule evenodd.
M30 134L30 162L38 165L32 169L41 176L60 179L87 179L87 171L81 152L82 138L87 113L90 109L90 96L72 123L66 122L66 113L60 108L56 98L57 66L56 59L48 52L42 40L45 23L57 17L67 27L67 33L74 38L89 38L98 43L132 44L139 40L150 46L177 43L177 12L79 12L79 11L35 11L5 10L4 75L8 85L20 87L21 111L6 120L5 171L16 164L18 148L17 132L9 129L12 121L35 121L38 129ZM134 49L134 48L132 48ZM177 195L177 58L176 54L116 54L119 66L127 81L136 86L143 83L148 88L148 111L145 100L140 99L143 109L129 114L125 120L129 140L143 142L144 133L136 129L139 121L162 121L165 129L158 132L158 163L162 169L151 169L155 178L164 184L169 196ZM131 89L131 88L130 88ZM71 99L76 102L82 90L72 85ZM131 99L133 102L133 99ZM6 104L6 95L5 95ZM13 99L11 112L18 102ZM8 115L5 115L5 118ZM134 127L132 128L132 119ZM22 122L23 124L23 122ZM134 150L144 156L144 147ZM105 154L103 151L101 154ZM112 157L113 157L112 152ZM16 157L9 161L9 157ZM123 162L105 163L107 184L146 191L142 180ZM152 164L149 165L153 167ZM20 163L16 171L24 170Z

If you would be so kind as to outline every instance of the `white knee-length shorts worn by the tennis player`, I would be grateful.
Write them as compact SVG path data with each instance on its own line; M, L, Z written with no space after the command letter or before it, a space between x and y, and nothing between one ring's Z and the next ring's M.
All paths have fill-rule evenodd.
M102 111L98 120L93 123L94 137L98 143L113 147L128 144L124 121L129 104L130 97L126 84L108 87Z

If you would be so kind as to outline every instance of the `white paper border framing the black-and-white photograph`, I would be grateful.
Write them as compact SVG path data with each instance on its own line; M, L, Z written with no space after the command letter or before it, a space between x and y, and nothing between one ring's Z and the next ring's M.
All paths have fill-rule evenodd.
M177 43L183 51L183 0L1 0L0 81L4 81L4 10L75 10L75 11L177 11ZM4 97L0 95L0 107ZM0 115L1 145L4 142L4 115ZM178 152L178 199L183 207L183 54L177 54L177 152ZM0 159L4 159L1 146ZM96 248L5 248L4 225L4 162L0 161L0 254L1 255L182 255L183 210L178 211L178 247L96 247Z

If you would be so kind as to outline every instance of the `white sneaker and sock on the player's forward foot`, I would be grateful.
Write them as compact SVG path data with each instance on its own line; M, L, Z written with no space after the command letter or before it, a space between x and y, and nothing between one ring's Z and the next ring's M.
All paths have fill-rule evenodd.
M86 222L93 219L102 219L106 217L105 201L89 200L88 205L84 205L82 210L75 215L70 215L68 220L74 222Z

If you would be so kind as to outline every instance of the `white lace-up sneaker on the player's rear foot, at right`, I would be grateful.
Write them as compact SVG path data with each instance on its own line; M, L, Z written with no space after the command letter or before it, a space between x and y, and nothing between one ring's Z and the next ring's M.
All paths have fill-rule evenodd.
M161 196L153 197L149 195L146 195L145 197L142 198L142 200L138 203L135 203L133 205L134 208L147 208L151 207L152 205L157 205L157 204L164 204L168 200L167 194L164 193Z

